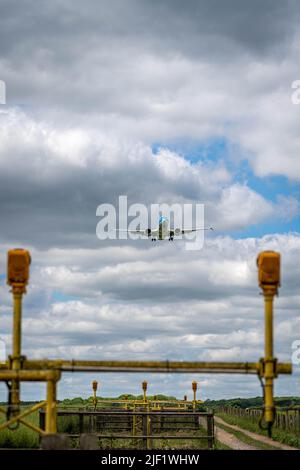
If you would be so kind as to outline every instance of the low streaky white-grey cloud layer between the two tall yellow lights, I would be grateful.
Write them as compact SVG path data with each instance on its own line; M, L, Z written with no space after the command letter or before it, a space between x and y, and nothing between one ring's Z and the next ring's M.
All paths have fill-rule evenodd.
M206 360L221 357L225 349L230 355L240 348L241 360L257 360L263 347L263 303L258 296L255 260L259 251L271 248L280 251L283 260L283 286L276 302L276 354L288 354L288 345L297 338L297 328L289 325L298 314L297 283L293 287L290 282L290 278L298 278L298 236L217 238L208 241L193 262L187 260L184 250L167 247L151 248L152 254L140 253L138 262L138 251L128 253L124 247L123 263L111 261L110 267L106 262L101 267L101 251L94 253L94 266L87 266L87 251L87 257L81 258L82 267L77 259L75 271L70 251L64 254L69 260L69 268L64 269L55 268L59 253L49 253L51 269L43 267L48 263L43 252L33 253L33 286L38 284L48 295L36 308L36 302L30 301L35 288L33 292L28 289L23 328L26 353L35 357L131 358L142 354L145 358ZM57 291L75 298L55 301L52 293ZM10 297L6 303L9 307ZM5 334L10 332L10 320L9 309L4 310Z

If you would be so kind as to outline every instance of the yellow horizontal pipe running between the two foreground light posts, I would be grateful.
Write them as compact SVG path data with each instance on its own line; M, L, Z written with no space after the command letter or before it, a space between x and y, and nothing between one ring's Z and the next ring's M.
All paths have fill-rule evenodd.
M8 369L8 363L0 365ZM77 360L28 360L27 370L57 369L62 372L181 372L181 373L246 373L257 374L261 364L257 362L189 362L189 361L77 361ZM278 374L291 374L292 364L277 363Z

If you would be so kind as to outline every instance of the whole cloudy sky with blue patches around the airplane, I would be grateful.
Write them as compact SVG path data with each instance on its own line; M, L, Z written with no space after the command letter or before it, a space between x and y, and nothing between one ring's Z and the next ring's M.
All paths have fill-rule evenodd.
M300 339L300 6L296 0L1 0L0 339L6 252L32 255L30 358L256 361L256 257L282 255L275 354ZM97 207L199 203L215 227L182 241L99 240ZM276 380L299 395L299 366ZM58 397L261 394L256 377L64 374ZM22 398L40 399L25 384ZM0 400L6 399L4 385Z

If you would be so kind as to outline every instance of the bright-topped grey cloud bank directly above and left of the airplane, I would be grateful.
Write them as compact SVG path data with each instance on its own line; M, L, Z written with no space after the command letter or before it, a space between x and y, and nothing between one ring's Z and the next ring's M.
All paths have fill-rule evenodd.
M219 230L243 229L274 215L270 202L231 181L222 162L191 163L165 148L153 154L141 142L93 129L56 129L18 110L0 118L3 241L96 247L96 208L116 204L121 194L129 204L204 203L208 225ZM291 206L291 199L280 201ZM297 215L293 202L291 217Z

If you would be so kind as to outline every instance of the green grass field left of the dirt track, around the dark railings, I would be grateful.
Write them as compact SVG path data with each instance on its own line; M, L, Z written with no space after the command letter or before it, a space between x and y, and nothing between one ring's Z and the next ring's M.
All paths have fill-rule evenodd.
M119 397L118 399L122 398L123 397ZM141 398L141 396L128 397L128 402L130 402L130 400L139 400ZM159 396L156 398L169 400L173 402L174 405L176 404L176 399L174 399L174 397ZM97 406L97 410L100 412L107 412L107 410L116 412L117 410L120 410L120 405L116 404L116 399L99 399L99 401L100 403ZM22 408L25 407L23 406ZM203 426L199 425L198 422L195 422L195 417L192 413L190 413L190 417L184 419L183 417L177 417L176 419L173 417L172 422L168 422L168 418L164 416L163 423L155 416L156 421L154 419L152 420L151 430L149 433L157 433L157 435L160 435L162 438L153 438L150 443L150 439L148 441L147 439L140 437L145 434L142 417L136 417L135 439L129 438L129 436L132 436L132 424L134 419L132 416L125 417L125 421L123 419L121 421L119 420L119 422L118 419L116 419L118 417L114 417L114 419L110 418L107 422L103 421L99 423L98 421L95 425L94 417L87 415L82 417L82 422L80 423L80 416L76 415L76 413L86 413L88 410L92 409L92 399L82 400L81 398L77 398L74 400L64 400L59 403L57 419L58 432L70 435L71 447L78 446L78 435L80 432L97 432L99 436L99 448L101 449L147 448L149 444L151 448L155 449L207 448L207 439L203 439L203 437L207 435L207 430ZM73 412L74 415L60 416L60 413ZM130 411L128 411L128 414L130 414ZM121 416L121 418L124 417ZM99 418L97 419L99 420ZM39 425L39 412L35 412L30 415L30 421L35 425ZM105 437L101 437L101 435ZM116 435L118 437L115 437ZM172 436L172 438L168 438L169 436ZM184 436L196 439L182 439ZM0 447L2 448L38 448L39 442L39 436L34 431L23 425L20 425L15 431L6 429L0 432ZM215 447L224 448L224 446L219 443L215 443Z

